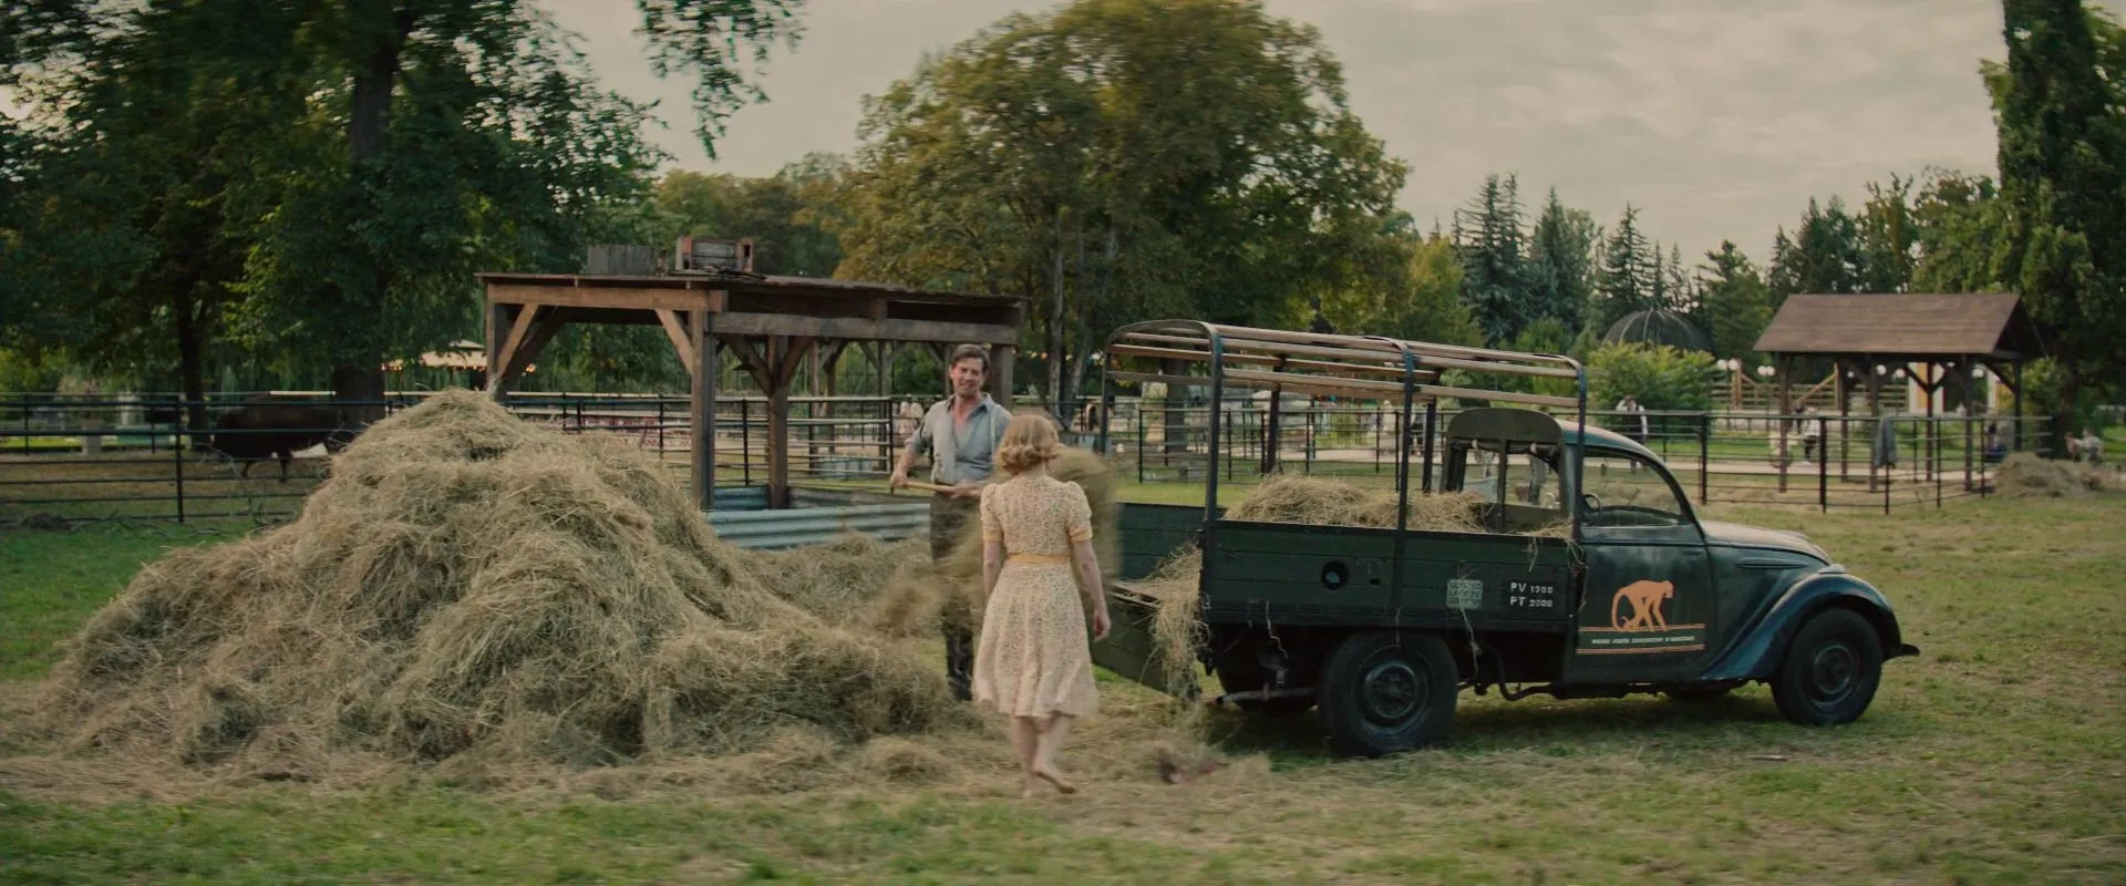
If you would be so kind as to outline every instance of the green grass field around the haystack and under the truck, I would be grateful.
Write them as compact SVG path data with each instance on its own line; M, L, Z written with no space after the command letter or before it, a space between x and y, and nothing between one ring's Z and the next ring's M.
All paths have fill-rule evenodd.
M1184 786L1120 769L1035 801L1001 748L948 784L600 797L155 788L17 744L0 748L0 882L2126 880L2126 497L1711 516L1805 529L1899 606L1922 654L1888 665L1860 722L1790 727L1760 686L1705 708L1465 695L1439 750L1329 761L1307 725L1220 729L1246 765ZM213 540L0 531L0 716L140 561ZM1103 686L1110 718L1152 703ZM1099 737L1089 725L1065 767Z

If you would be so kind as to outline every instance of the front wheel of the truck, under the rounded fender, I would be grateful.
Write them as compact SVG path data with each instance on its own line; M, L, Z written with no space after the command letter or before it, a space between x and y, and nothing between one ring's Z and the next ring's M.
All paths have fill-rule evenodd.
M1882 682L1882 637L1854 610L1818 612L1786 646L1771 699L1790 722L1835 727L1860 718Z

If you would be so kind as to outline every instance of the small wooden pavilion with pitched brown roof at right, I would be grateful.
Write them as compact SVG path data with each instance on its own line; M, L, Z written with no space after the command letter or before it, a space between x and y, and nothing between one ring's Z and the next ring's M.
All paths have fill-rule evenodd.
M1790 295L1756 351L1777 363L1782 414L1794 408L1790 378L1801 359L1835 365L1839 416L1850 412L1852 378L1867 391L1869 414L1882 414L1890 372L1875 372L1877 365L1911 372L1911 382L1926 391L1928 419L1937 391L1952 380L1969 408L1971 370L1986 368L2015 395L2015 448L2022 448L2022 365L2045 355L2037 323L2013 293Z

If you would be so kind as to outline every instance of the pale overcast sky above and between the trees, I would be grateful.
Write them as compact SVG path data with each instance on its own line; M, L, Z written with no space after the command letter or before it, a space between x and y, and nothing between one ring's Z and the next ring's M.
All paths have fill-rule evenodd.
M848 151L861 96L1012 11L1008 0L808 0L710 161L687 83L651 74L621 0L540 0L617 91L659 100L691 170L772 174ZM2120 2L2100 6L2120 8ZM1605 225L1629 200L1686 259L1733 238L1765 261L1807 198L1865 200L1924 166L1994 172L1977 79L2003 57L1998 0L1267 0L1344 62L1352 108L1410 161L1403 208L1448 221L1486 172L1518 172Z

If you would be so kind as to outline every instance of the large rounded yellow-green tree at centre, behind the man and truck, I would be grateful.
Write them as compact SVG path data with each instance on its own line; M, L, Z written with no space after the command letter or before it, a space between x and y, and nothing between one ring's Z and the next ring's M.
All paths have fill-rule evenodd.
M1250 0L1012 15L870 98L844 276L1033 300L1067 399L1118 323L1267 323L1393 266L1403 166L1314 28Z

